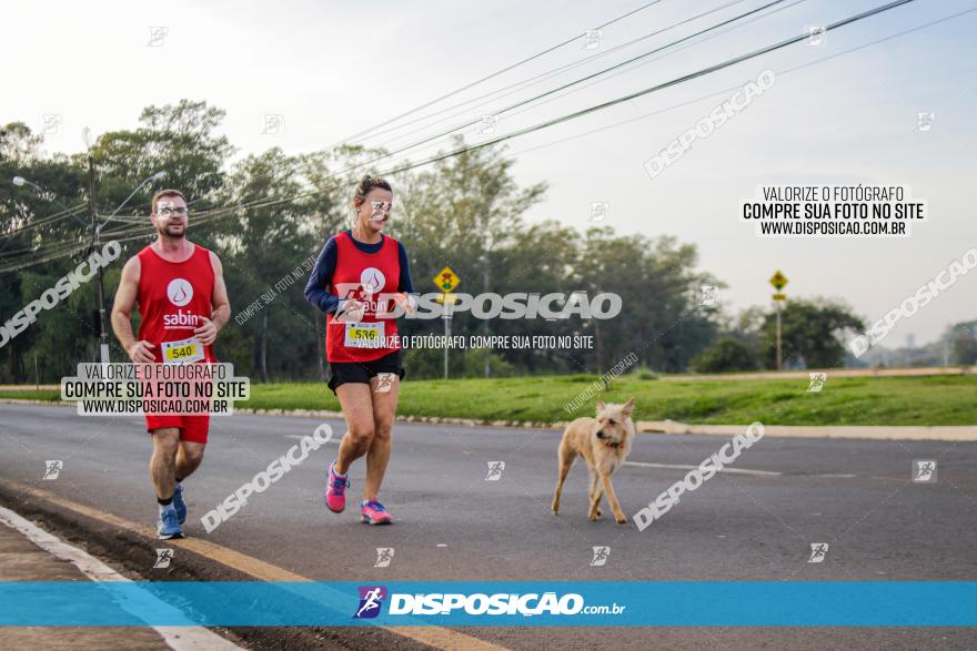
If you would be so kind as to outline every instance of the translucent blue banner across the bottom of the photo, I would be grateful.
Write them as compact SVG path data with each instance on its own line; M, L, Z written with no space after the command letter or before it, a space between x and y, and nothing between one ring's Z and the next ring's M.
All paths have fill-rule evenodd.
M0 625L974 627L974 581L0 582Z

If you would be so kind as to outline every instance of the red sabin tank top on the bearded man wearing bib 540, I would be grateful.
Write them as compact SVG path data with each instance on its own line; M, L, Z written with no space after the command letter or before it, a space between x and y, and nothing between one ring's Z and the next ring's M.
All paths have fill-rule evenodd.
M211 318L214 273L210 251L195 244L193 255L183 262L163 260L152 247L139 252L139 338L153 344L157 362L163 362L164 342L181 342L193 337L200 317ZM168 347L170 348L170 347ZM183 347L173 347L179 356ZM213 346L203 350L200 362L215 362Z

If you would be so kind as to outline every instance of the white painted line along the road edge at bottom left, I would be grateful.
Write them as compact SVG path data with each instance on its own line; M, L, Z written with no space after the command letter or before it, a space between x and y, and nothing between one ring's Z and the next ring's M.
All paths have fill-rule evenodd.
M30 520L26 520L10 509L0 507L0 521L2 521L11 529L20 531L31 542L33 542L51 556L60 560L69 561L79 570L81 570L82 573L84 573L92 581L131 581L131 579L123 577L99 559L90 556L88 552L82 551L81 549L71 545L68 545L60 538L44 531ZM172 609L169 603L159 600L149 591L145 591L145 600L158 601L160 604L160 610ZM120 603L119 606L123 610L128 610L124 602ZM138 616L137 612L133 612L133 614ZM173 649L173 651L209 651L211 649L221 651L225 649L240 649L240 647L238 647L236 644L221 638L220 635L218 635L213 631L205 629L204 627L150 628L158 632L163 638L163 641L167 643L167 645L170 649Z

